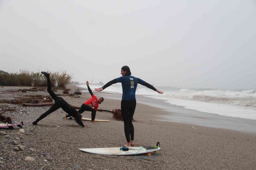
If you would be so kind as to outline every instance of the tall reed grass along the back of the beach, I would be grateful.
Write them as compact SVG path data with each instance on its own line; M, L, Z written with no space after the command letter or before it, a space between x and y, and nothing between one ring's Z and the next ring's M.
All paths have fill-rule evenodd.
M73 78L73 74L67 71L59 71L50 73L52 87L66 88ZM46 76L40 71L32 72L27 70L20 70L19 72L8 73L0 70L0 85L1 86L47 86Z

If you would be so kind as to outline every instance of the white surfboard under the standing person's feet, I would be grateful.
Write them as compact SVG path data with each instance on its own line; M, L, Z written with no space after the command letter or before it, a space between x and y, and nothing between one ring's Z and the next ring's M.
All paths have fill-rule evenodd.
M121 147L117 148L79 148L80 150L92 154L101 154L101 155L135 155L135 154L144 154L148 152L153 152L160 150L158 146L141 146L141 147L128 147L129 150L124 151L120 150Z

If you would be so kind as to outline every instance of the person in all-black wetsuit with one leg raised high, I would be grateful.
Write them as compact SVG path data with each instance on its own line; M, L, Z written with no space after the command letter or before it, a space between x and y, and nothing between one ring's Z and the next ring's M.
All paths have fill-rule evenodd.
M52 112L56 111L59 108L62 108L63 111L72 115L79 125L84 127L84 124L82 123L82 120L81 120L81 117L82 117L81 114L79 114L77 112L77 110L74 107L72 107L71 105L69 105L62 97L57 97L57 95L51 90L51 81L50 81L50 76L49 76L50 74L46 73L44 71L42 71L41 73L44 74L47 78L47 91L49 92L49 94L51 95L51 97L53 98L55 103L54 103L54 105L51 106L51 108L48 111L46 111L44 114L42 114L32 124L36 125L37 122L39 122L40 120L42 120L43 118L45 118L46 116L51 114Z

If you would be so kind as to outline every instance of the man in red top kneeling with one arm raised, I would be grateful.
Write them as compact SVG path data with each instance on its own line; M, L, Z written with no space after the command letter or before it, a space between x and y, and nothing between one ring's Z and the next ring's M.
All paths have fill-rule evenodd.
M96 95L94 95L92 93L92 90L89 87L89 82L88 81L86 81L86 85L87 85L88 91L91 94L92 98L90 98L89 100L85 101L81 105L81 109L78 112L81 114L84 111L91 111L92 112L92 122L95 122L96 111L97 111L97 109L99 107L99 104L104 101L104 98L100 97L99 99L97 99ZM94 109L92 107L94 107ZM70 116L71 116L70 114L66 114L64 116L64 119L66 120L67 117L70 117Z

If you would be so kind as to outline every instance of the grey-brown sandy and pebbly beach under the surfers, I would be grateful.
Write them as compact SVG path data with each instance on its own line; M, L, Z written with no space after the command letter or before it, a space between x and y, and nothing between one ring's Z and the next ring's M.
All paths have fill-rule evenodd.
M1 88L0 99L13 100L25 95L49 96L47 91L17 91L22 88L31 87ZM73 93L78 87L68 88ZM62 94L62 91L55 93ZM113 97L110 99L110 94L95 95L104 97L99 109L120 109L121 101ZM80 106L90 98L90 94L82 92L79 98L61 97L71 105ZM24 122L24 132L18 128L1 129L0 132L6 134L0 135L0 169L255 169L256 133L162 121L161 116L170 112L160 110L153 103L152 106L137 102L133 122L135 146L152 146L160 142L162 154L155 158L138 159L133 155L97 155L78 149L122 147L126 143L123 122L113 119L112 113L97 112L96 119L111 121L83 121L86 126L81 128L74 120L64 120L65 112L58 109L34 126L32 122L50 106L23 107L0 103L0 112L13 108L13 111L4 114L14 115L13 121ZM179 109L175 114L179 114ZM90 118L91 113L84 112L82 116ZM9 143L11 140L24 146L24 150L15 151L16 146ZM35 161L25 161L27 156ZM53 160L47 160L48 157Z

